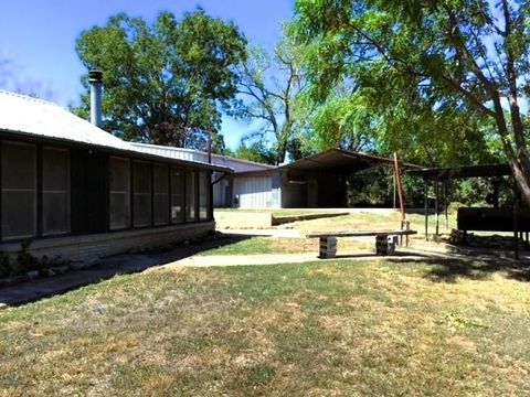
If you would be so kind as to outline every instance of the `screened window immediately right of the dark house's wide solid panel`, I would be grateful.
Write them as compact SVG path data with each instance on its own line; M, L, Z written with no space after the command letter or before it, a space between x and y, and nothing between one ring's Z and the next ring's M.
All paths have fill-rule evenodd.
M109 158L109 227L112 230L130 226L130 162Z

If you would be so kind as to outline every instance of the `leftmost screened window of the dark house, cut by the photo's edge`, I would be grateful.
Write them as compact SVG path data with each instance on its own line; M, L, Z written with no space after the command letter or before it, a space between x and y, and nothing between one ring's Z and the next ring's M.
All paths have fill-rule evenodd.
M36 148L2 142L2 236L28 238L36 234Z

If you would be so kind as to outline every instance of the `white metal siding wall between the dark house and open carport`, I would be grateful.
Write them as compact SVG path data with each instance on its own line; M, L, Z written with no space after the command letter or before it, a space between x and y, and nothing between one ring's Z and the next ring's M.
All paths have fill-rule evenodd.
M264 176L234 176L234 196L241 208L271 208L273 179Z

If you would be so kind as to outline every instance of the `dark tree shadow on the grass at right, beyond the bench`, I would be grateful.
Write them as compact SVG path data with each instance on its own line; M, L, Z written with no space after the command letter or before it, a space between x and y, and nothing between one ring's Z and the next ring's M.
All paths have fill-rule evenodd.
M399 262L400 259L389 259ZM530 262L502 257L439 258L426 256L409 261L431 266L425 277L434 282L456 282L458 279L488 280L494 273L504 273L509 279L530 281Z

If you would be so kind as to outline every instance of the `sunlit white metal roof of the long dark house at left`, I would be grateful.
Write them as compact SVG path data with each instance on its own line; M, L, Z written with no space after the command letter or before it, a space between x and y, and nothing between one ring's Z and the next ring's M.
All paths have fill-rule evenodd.
M148 152L131 142L123 141L61 106L42 99L0 90L0 130L10 133L88 144L153 159L178 160L182 164L233 172L227 167L210 164L205 161L177 159L163 151Z

